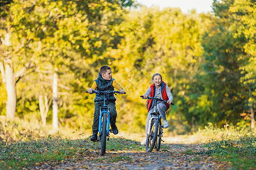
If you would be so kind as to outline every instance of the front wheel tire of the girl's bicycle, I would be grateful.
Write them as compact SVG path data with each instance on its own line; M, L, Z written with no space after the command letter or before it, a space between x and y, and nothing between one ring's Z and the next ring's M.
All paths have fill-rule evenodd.
M150 124L150 133L147 134L146 151L151 152L155 147L156 138L158 137L158 120L155 118Z

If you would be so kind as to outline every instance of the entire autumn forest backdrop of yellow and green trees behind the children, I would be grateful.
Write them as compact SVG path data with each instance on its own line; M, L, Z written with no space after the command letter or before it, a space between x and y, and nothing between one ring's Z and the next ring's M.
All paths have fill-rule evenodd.
M94 95L86 90L109 65L127 92L116 96L122 131L144 131L147 109L139 96L154 73L174 96L171 133L209 123L255 126L254 0L214 0L207 14L133 0L0 2L4 117L91 130Z

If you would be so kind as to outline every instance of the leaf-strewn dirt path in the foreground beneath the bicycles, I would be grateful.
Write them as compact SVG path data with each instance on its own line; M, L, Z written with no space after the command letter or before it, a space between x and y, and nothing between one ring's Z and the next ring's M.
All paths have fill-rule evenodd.
M31 169L231 169L228 163L217 162L208 155L199 154L207 148L195 144L164 144L160 152L136 150L88 150L82 158L70 161L47 162Z

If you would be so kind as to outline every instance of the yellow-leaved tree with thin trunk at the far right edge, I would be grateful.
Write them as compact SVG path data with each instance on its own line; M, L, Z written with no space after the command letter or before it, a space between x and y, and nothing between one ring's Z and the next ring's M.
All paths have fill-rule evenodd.
M244 53L240 54L240 70L242 73L240 82L249 89L247 105L249 107L251 128L255 127L255 96L256 96L256 3L255 1L234 1L229 7L230 15L236 20L230 26L234 39L242 42Z

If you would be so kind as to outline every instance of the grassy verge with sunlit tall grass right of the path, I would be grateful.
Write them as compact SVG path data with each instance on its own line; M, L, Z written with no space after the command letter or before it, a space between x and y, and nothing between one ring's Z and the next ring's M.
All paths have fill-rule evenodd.
M212 125L195 135L208 136L208 150L197 154L213 156L218 161L232 163L233 169L256 169L256 134L240 126L213 128ZM188 151L189 152L189 151Z

